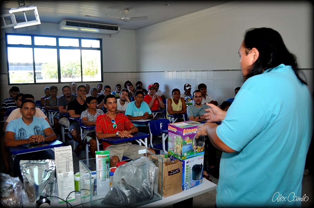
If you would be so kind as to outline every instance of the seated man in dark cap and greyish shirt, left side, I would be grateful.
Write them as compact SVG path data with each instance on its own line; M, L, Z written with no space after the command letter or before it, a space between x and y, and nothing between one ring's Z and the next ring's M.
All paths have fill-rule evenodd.
M57 110L58 109L58 101L59 97L57 96L58 94L58 88L57 86L51 86L50 87L50 93L51 96L45 99L45 110ZM61 127L59 124L59 113L56 113L53 116L53 127L59 137L61 137Z

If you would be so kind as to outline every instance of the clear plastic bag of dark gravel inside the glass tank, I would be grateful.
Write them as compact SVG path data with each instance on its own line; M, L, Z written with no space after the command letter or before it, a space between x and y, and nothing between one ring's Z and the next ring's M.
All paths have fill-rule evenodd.
M154 196L156 165L147 157L119 166L113 175L111 190L102 203L135 206Z

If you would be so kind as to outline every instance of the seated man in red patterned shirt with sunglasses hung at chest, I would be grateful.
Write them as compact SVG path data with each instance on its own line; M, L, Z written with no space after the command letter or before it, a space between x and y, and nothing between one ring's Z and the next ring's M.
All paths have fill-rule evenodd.
M142 92L143 93L143 92ZM114 95L107 95L104 98L104 106L108 109L107 113L100 115L96 119L96 137L97 139L109 137L133 137L132 133L138 132L138 128L122 113L116 113L117 101ZM115 167L116 163L122 160L122 157L137 159L143 154L138 154L139 150L148 149L147 147L132 144L131 142L110 144L102 141L103 148L109 151L110 167ZM149 149L153 153L154 150Z

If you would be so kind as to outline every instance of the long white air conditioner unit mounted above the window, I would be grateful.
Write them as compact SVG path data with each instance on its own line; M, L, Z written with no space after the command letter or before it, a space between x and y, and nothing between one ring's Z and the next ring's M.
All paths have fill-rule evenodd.
M120 27L114 24L93 23L64 19L59 23L59 30L111 35L120 32Z

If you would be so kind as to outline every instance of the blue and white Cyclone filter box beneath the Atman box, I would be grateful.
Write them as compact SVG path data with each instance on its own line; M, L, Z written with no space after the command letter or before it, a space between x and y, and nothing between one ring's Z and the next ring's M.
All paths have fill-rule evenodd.
M182 161L182 190L190 189L203 183L204 153Z

